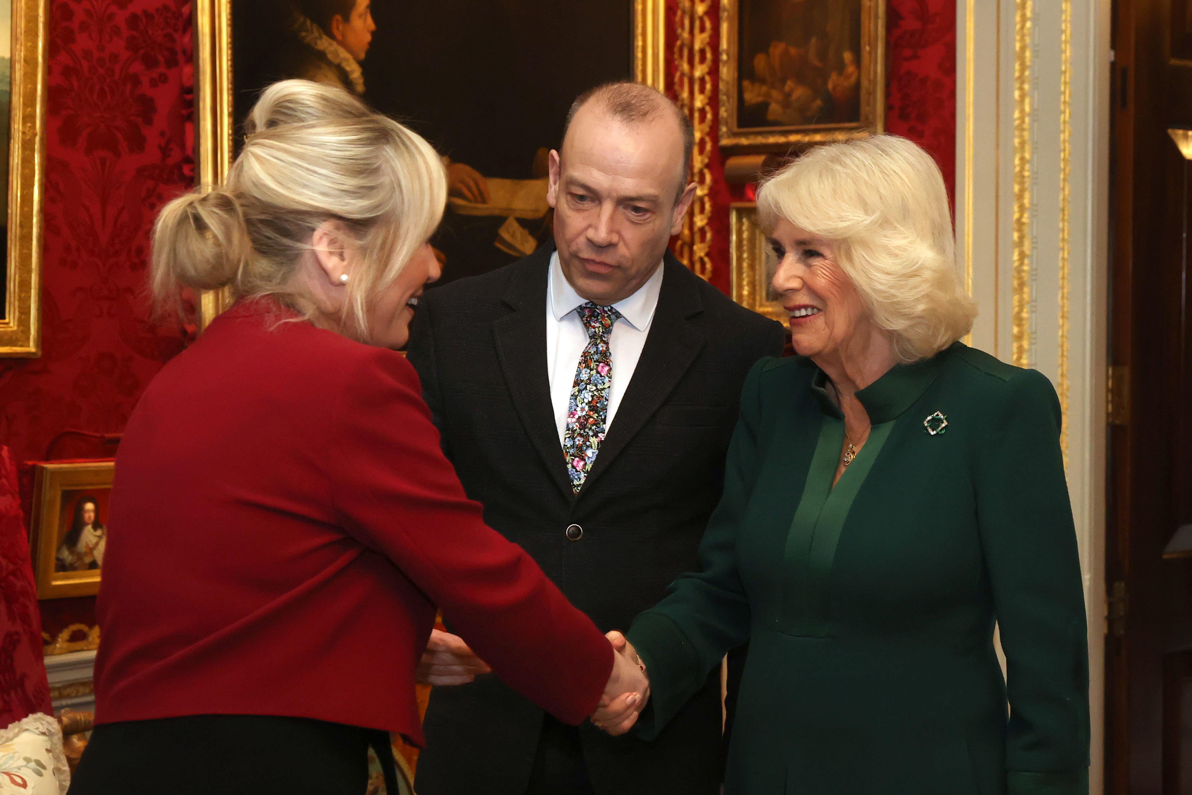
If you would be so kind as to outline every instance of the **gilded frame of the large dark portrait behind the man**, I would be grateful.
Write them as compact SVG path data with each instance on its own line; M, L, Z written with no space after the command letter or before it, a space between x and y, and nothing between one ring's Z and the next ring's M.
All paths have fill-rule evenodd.
M234 159L231 2L195 0L194 4L195 180L199 186L219 185ZM665 0L633 0L632 17L634 79L665 91ZM199 305L200 329L228 308L229 298L226 291L204 292Z

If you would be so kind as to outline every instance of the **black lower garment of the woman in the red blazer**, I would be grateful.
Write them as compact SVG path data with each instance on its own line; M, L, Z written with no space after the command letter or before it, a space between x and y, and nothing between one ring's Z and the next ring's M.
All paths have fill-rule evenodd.
M384 732L305 718L187 715L105 723L92 732L69 795L364 795L370 745L381 745L378 758L392 764Z

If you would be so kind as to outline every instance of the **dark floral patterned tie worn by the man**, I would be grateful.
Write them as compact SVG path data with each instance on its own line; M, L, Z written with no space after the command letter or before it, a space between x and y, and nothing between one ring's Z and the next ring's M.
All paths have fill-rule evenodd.
M611 306L588 302L576 309L588 329L588 347L579 354L576 380L567 400L567 424L563 431L563 454L567 460L571 489L579 491L604 441L608 418L608 390L613 384L613 354L608 336L621 313Z

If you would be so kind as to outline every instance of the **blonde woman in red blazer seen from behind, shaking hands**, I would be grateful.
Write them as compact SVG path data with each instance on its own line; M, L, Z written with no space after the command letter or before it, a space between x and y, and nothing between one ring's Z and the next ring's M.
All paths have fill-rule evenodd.
M223 188L161 212L153 286L237 303L153 380L116 464L98 727L75 793L352 793L422 743L436 605L569 723L644 688L483 522L391 350L439 275L418 136L339 88L265 92Z

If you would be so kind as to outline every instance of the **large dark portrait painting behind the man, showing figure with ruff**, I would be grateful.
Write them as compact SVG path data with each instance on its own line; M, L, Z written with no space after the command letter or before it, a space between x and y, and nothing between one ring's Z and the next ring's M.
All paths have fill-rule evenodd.
M635 19L647 5L662 7L659 0L207 4L216 19L200 25L200 36L228 31L215 62L229 75L231 118L200 129L223 129L234 156L260 92L290 77L341 86L406 124L447 169L448 204L432 241L443 262L440 285L550 244L547 156L560 145L567 110L596 85L634 77Z

